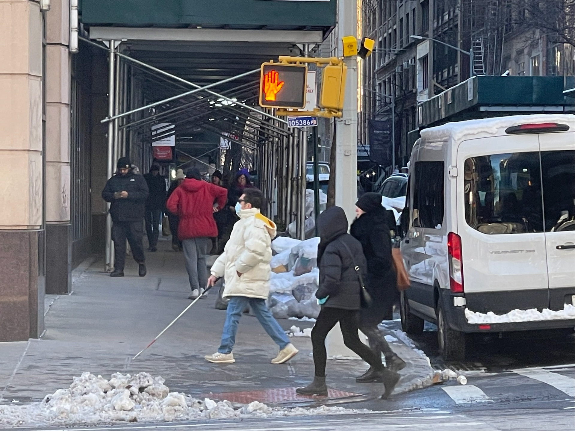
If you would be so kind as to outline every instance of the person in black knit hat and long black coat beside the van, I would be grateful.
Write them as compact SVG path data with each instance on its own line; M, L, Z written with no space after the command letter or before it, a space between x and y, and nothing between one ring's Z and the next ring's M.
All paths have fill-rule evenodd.
M379 323L393 318L393 300L397 292L397 275L393 267L392 241L389 226L395 222L393 212L381 204L381 194L365 193L355 204L358 216L351 224L350 233L357 239L367 260L365 278L367 292L373 303L359 312L359 329L367 335L375 353L385 355L386 367L393 371L405 368L405 362L389 347ZM381 382L374 368L358 377L356 382Z

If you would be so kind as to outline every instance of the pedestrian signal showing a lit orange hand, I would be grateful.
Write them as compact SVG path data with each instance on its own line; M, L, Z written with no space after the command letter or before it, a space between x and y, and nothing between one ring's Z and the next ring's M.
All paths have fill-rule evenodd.
M307 75L305 64L262 63L259 105L262 108L304 108Z

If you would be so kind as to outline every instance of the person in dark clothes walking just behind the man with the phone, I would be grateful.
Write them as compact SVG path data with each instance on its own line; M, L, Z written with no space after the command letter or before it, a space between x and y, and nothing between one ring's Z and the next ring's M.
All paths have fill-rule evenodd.
M145 231L148 235L150 251L158 250L158 237L160 235L160 218L166 204L166 178L160 175L160 167L152 165L150 172L144 175L148 185L148 199L145 201Z

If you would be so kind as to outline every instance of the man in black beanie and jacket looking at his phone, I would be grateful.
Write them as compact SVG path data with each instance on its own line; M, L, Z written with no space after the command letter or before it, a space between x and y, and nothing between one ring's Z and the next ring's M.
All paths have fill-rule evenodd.
M106 182L102 190L102 199L110 203L109 212L113 223L112 241L116 260L110 277L124 277L126 239L138 264L139 276L144 277L146 274L142 222L148 185L141 175L133 172L131 166L127 157L118 159L116 174Z

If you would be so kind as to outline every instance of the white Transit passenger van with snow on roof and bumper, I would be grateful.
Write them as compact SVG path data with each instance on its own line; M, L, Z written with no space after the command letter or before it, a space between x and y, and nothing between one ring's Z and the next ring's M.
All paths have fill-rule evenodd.
M424 129L411 154L401 252L408 333L438 326L446 359L465 334L575 326L575 116Z

